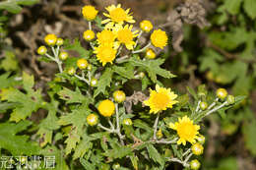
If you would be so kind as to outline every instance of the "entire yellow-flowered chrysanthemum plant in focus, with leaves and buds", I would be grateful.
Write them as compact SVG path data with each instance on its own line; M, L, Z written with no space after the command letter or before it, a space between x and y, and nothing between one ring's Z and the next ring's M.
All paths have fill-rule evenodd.
M147 20L135 29L130 10L120 5L107 7L105 20L93 6L85 6L82 14L89 24L83 33L88 48L77 39L72 43L46 35L47 46L37 52L40 60L55 62L59 73L48 83L46 98L40 89L32 89L33 78L27 74L26 94L3 90L2 100L17 102L15 93L32 102L22 102L10 119L21 122L39 108L47 110L46 118L34 126L40 146L63 148L67 161L79 166L74 163L79 160L87 170L165 169L173 162L199 169L197 158L207 140L203 118L215 112L224 117L224 110L243 97L224 88L211 93L204 85L197 91L187 88L190 94L164 87L160 78L175 77L160 67L164 59L157 58L168 42L165 31ZM140 44L144 35L148 41ZM79 57L69 56L70 51ZM141 82L142 92L126 96L125 84L134 80ZM60 161L57 167L68 169Z

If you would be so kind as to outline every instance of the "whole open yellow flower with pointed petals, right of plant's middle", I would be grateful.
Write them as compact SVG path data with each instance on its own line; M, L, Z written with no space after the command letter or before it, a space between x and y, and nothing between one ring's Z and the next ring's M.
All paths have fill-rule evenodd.
M156 85L156 90L151 89L150 98L144 101L144 104L151 107L150 113L156 114L161 110L172 108L172 105L178 102L177 100L174 100L176 97L177 94L170 91L170 88Z

